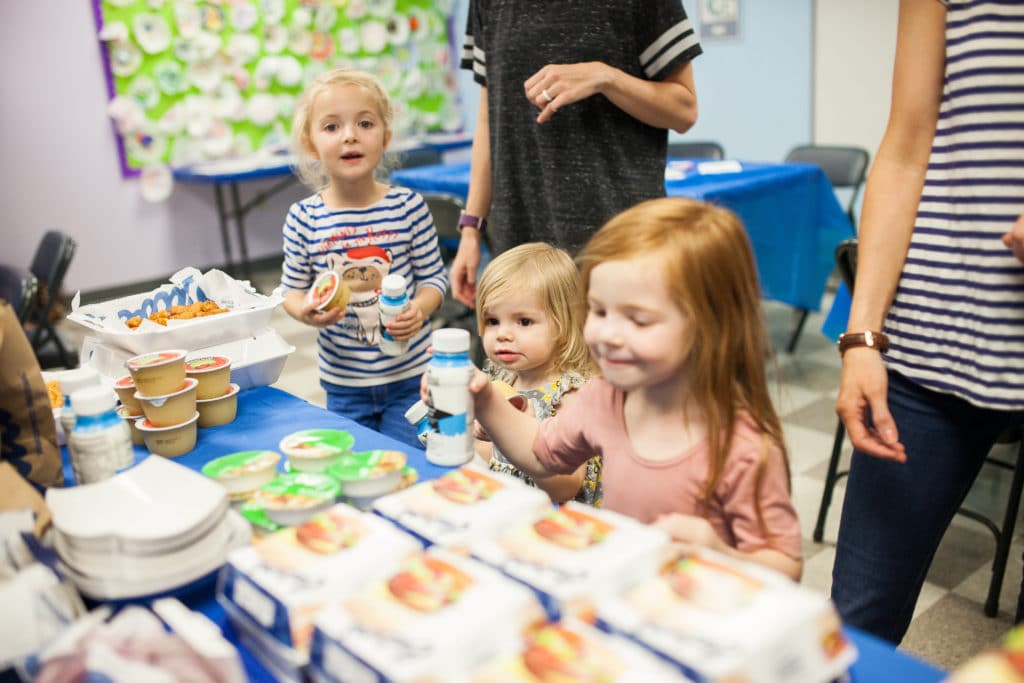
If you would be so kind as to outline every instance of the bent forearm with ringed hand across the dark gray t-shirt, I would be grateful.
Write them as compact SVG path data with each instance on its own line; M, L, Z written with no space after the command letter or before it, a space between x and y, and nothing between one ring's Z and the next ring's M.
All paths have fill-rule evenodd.
M541 109L538 123L544 123L563 106L598 94L654 128L684 133L697 120L690 61L679 65L660 81L631 76L603 61L548 65L530 76L524 87L526 97Z

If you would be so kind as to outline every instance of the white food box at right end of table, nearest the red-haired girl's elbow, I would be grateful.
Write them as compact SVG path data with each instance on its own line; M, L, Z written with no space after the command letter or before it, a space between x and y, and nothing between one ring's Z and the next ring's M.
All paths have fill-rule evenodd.
M826 683L856 658L827 598L761 566L701 551L637 579L596 600L598 625L699 683Z

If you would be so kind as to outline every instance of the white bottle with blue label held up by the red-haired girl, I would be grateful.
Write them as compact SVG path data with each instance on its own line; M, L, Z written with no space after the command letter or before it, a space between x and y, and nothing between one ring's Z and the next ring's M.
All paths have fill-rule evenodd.
M427 460L458 466L473 457L473 399L469 380L469 332L445 328L432 337L433 356L427 367Z

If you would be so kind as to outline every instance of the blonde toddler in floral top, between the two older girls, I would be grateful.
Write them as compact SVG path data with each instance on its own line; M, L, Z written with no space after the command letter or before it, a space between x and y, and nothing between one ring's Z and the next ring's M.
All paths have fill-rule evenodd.
M568 404L590 377L583 305L575 264L567 253L547 244L528 243L504 252L480 278L476 319L488 360L484 371L525 397L528 413L538 419ZM490 469L540 486L556 503L573 497L601 503L600 458L591 458L571 474L530 477L492 444L478 443L477 452Z

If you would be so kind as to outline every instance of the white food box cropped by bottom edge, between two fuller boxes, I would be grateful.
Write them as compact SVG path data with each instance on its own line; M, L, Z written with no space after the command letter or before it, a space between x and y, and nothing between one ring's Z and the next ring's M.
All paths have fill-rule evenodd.
M536 624L518 652L481 667L466 683L690 683L649 650L578 620Z

